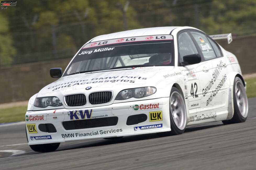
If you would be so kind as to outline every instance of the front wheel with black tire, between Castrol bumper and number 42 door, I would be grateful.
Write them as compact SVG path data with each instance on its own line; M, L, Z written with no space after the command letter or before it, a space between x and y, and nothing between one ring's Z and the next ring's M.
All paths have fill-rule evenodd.
M177 135L185 131L187 124L186 105L180 91L176 87L171 89L169 108L171 131L158 133L159 136Z

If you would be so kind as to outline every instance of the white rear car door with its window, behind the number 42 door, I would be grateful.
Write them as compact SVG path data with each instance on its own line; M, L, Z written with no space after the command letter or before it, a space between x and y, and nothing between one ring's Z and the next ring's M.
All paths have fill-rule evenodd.
M228 95L224 95L228 85L225 83L227 69L221 57L222 53L217 44L204 33L199 31L190 31L190 33L202 51L204 60L212 65L211 75L201 81L203 106L213 109L222 107L226 103L222 101L228 101Z

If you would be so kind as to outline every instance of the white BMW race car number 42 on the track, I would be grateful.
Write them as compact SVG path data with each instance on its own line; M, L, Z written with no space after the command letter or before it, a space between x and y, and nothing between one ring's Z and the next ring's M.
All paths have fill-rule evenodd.
M237 58L193 27L155 27L95 37L57 81L29 100L28 144L54 151L60 142L145 133L181 134L188 125L244 122L246 83Z

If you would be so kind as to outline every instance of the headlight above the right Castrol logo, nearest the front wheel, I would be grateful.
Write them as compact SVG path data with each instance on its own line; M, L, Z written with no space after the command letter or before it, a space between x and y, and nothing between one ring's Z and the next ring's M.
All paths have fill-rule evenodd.
M153 95L157 91L155 87L140 87L134 89L125 89L118 93L115 100L125 100L129 98L142 98Z

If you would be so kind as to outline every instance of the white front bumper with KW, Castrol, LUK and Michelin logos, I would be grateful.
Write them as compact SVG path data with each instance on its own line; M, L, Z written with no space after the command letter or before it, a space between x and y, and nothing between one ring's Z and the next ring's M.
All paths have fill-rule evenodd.
M145 114L146 119L138 124L133 123L132 125L127 125L127 118L138 114ZM101 124L99 121L94 121L101 118L111 119L112 117L118 117L118 121L115 123L116 125L113 126L104 126L104 123ZM84 120L86 121L87 119L94 120L90 121L91 124L87 127L81 125L81 122L84 122ZM75 122L70 121L77 120L80 121L80 123L76 123L75 127L73 125ZM71 123L71 128L70 126L67 127L63 122L68 122L68 124ZM42 126L40 124L52 124L56 128L57 132L43 132L45 131L45 128L42 127L46 126ZM82 128L74 129L74 127ZM114 103L92 108L63 108L57 110L26 112L26 133L29 145L129 136L170 130L169 97L144 101Z

